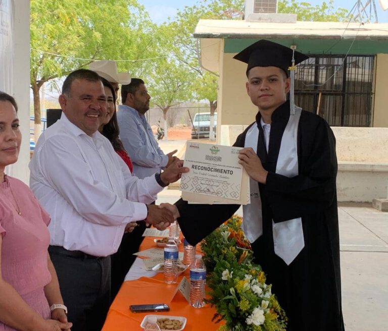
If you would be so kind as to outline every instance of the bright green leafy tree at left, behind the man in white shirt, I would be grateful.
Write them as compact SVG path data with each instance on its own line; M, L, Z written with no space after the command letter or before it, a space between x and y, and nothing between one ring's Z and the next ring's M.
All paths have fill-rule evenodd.
M31 0L30 6L30 83L38 125L44 83L93 60L134 60L119 62L119 69L141 72L146 64L136 60L156 56L148 47L154 25L136 0Z

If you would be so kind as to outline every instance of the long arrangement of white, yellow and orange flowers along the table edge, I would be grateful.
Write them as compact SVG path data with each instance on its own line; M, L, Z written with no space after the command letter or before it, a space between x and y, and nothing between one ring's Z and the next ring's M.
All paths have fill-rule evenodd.
M260 265L253 263L240 225L241 217L233 216L201 244L209 270L207 301L217 309L213 320L225 321L222 331L283 331L285 313Z

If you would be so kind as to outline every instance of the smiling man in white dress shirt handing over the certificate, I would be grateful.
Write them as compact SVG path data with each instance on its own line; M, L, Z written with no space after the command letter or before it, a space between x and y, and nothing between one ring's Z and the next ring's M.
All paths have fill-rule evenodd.
M100 330L110 302L110 255L126 224L145 219L164 229L173 222L171 212L148 204L186 169L177 161L162 174L131 176L98 132L107 99L96 73L71 73L59 102L62 117L40 136L31 159L30 186L52 217L49 252L72 330Z

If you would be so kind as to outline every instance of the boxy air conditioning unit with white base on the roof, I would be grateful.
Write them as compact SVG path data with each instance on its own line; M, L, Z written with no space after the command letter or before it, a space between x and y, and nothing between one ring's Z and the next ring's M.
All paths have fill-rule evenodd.
M277 0L246 0L244 19L248 22L295 23L296 14L277 14Z

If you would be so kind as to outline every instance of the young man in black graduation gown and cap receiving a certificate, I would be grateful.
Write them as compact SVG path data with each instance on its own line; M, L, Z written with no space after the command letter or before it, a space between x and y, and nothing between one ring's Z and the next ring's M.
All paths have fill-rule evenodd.
M294 56L296 63L307 59L299 52ZM261 200L244 209L243 220L256 262L288 316L287 330L343 331L333 133L322 118L296 107L291 96L286 101L290 48L260 40L235 59L248 63L247 92L259 111L234 143L246 147L239 162L250 175L251 204L255 188ZM239 207L183 200L175 206L166 205L179 216L191 244Z

